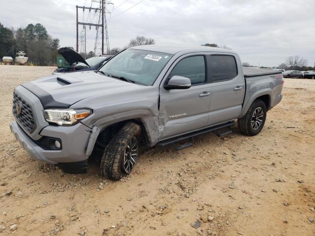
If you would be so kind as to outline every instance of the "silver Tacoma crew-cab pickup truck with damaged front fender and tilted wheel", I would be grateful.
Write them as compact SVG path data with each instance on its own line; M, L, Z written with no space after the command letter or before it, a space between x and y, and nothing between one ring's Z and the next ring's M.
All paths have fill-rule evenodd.
M241 133L258 134L282 88L280 71L245 70L229 50L138 46L97 71L16 87L10 128L33 158L75 174L94 157L104 177L119 180L132 171L140 146L221 136L236 119Z

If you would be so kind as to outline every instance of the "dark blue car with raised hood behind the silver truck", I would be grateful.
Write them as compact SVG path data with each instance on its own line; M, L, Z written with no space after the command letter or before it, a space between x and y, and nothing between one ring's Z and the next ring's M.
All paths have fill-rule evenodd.
M75 71L86 71L86 70L97 70L100 68L105 61L111 59L112 55L103 55L84 59L80 54L71 48L60 48L58 53L63 56L66 62L70 65L69 67L62 67L56 69L53 74L68 73Z

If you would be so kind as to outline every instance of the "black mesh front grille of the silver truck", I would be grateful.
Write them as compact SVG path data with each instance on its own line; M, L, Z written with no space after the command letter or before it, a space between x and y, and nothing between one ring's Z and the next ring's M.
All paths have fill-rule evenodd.
M36 129L32 108L23 98L13 92L12 113L16 121L30 134Z

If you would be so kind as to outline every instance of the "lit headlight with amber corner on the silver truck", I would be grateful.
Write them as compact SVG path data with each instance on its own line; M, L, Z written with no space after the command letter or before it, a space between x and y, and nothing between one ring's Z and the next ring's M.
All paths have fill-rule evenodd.
M58 125L74 125L79 120L84 119L92 114L88 109L46 109L44 118L51 123Z

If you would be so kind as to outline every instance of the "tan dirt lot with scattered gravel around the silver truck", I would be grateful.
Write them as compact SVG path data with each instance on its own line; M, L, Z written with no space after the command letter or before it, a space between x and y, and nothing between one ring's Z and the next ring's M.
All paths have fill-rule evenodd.
M0 235L315 235L314 80L285 79L259 135L152 148L113 182L94 163L67 175L32 160L10 133L14 87L53 70L0 65Z

